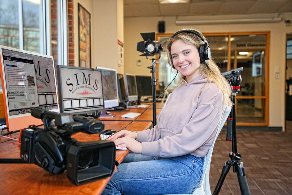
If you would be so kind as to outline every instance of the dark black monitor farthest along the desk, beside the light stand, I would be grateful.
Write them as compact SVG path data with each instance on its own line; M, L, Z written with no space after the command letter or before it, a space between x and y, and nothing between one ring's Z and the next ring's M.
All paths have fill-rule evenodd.
M151 76L136 75L136 82L137 82L138 96L152 95Z

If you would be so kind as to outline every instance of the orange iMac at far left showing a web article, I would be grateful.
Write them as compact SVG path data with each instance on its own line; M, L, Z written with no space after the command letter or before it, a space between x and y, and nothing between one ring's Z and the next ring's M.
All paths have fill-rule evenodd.
M59 112L52 56L0 45L1 80L8 131L40 125L33 108Z

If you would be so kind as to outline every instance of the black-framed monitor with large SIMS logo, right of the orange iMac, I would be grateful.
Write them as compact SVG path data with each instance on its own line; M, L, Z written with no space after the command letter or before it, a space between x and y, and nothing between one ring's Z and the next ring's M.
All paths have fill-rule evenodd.
M75 66L57 66L60 111L74 114L104 109L101 72Z

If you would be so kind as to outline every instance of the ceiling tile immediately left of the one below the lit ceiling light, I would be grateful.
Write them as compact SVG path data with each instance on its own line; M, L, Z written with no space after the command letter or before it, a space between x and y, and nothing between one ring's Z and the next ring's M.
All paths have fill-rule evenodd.
M130 10L133 12L134 16L160 16L158 4L148 4L148 5L129 5Z

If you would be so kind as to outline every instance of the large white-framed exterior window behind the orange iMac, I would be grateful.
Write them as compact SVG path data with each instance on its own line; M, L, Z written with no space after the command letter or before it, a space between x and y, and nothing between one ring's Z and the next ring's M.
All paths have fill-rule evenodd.
M1 45L51 55L55 69L67 65L66 0L1 0L0 13Z

